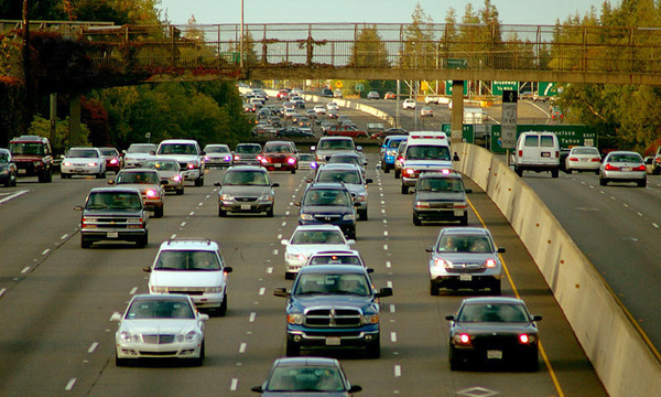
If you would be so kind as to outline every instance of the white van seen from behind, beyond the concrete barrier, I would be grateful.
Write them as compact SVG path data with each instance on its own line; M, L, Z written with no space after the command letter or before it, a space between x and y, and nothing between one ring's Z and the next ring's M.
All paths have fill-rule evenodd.
M550 131L521 132L514 151L514 172L522 176L523 171L550 171L552 178L560 173L560 142Z

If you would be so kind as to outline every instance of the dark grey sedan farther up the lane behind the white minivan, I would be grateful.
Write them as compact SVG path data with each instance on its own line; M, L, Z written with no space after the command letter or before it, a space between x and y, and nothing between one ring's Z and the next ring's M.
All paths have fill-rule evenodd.
M275 193L267 170L259 165L235 165L227 170L223 183L214 183L218 190L218 216L229 213L266 213L273 217Z

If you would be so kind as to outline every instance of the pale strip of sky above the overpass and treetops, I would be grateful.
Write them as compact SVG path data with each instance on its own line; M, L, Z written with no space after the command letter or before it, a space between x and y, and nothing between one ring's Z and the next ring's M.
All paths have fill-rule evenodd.
M245 23L410 23L415 4L435 23L443 23L452 7L457 22L467 3L475 10L484 0L243 0ZM502 24L550 24L570 15L584 15L604 0L491 0ZM610 0L617 6L619 0ZM192 15L199 24L240 23L241 0L161 0L163 15L174 24L186 24Z

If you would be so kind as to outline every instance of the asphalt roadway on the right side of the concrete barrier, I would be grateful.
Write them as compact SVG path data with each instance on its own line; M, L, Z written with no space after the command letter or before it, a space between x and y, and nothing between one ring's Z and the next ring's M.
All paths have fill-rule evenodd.
M649 189L598 186L596 179L586 174L553 182L528 178L525 182L659 350L661 315L649 304L650 297L661 293L659 228L650 218L661 214L658 204L644 204L653 203L657 194Z

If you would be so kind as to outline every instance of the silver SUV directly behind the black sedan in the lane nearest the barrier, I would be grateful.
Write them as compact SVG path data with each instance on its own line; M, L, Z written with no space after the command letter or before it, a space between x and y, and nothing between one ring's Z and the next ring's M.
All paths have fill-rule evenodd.
M481 227L444 227L436 244L426 249L430 256L430 293L437 296L441 288L489 289L499 296L503 278L499 254L491 233Z

